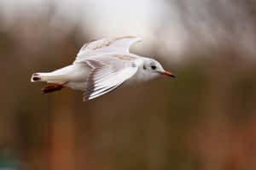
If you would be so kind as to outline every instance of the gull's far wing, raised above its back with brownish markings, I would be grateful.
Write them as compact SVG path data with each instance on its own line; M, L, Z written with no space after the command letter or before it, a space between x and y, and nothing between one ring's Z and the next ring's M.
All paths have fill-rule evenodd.
M98 54L130 54L129 48L131 44L140 40L140 37L127 36L113 39L100 39L85 43L79 50L75 62L90 59Z

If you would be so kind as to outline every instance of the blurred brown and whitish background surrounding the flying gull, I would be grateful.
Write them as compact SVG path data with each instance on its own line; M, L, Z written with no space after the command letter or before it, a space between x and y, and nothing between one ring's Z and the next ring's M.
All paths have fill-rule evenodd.
M0 169L256 169L255 30L253 0L1 0ZM84 103L30 82L130 35L177 78Z

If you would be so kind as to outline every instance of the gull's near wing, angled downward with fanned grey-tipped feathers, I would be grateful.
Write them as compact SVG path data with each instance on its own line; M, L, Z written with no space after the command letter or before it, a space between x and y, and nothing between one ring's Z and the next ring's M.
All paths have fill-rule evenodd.
M136 60L125 55L103 55L84 60L92 67L87 79L84 101L94 99L119 87L137 72Z

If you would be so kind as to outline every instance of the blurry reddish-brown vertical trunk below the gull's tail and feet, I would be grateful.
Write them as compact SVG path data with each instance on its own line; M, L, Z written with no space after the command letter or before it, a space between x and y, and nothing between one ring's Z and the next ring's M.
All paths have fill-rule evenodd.
M51 127L51 169L75 169L75 126L73 99L70 93L61 92L53 102Z

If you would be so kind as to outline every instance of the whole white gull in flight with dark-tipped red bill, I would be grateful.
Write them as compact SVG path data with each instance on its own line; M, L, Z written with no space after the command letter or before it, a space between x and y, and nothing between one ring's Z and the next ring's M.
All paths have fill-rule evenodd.
M147 82L160 75L175 77L158 61L137 54L129 48L140 37L126 36L87 42L79 50L72 65L51 72L32 74L31 82L47 82L44 94L68 87L84 91L83 101L95 99L124 82Z

